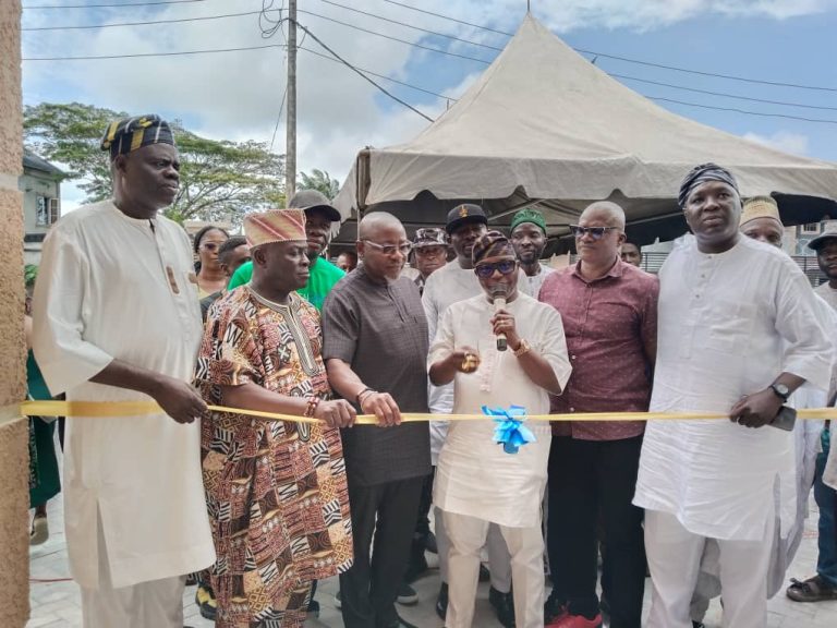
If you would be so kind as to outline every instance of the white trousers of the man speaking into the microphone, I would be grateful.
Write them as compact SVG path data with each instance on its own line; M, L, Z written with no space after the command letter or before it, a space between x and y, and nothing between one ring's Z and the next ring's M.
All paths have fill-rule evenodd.
M447 628L471 628L474 619L476 587L480 579L480 553L493 527L488 521L444 512L450 539L448 555ZM514 623L518 628L544 626L544 535L541 526L508 528L497 526L511 554L514 581ZM492 571L494 565L492 564Z

